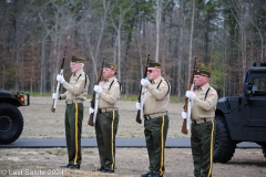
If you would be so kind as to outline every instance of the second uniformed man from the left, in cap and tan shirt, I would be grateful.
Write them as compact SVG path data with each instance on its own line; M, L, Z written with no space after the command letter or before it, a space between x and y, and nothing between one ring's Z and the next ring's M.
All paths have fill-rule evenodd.
M119 127L117 102L121 94L121 85L115 77L116 70L116 64L104 62L104 80L99 85L94 85L94 91L99 94L98 114L94 125L101 163L101 167L98 170L102 173L114 173L115 166L115 135Z

